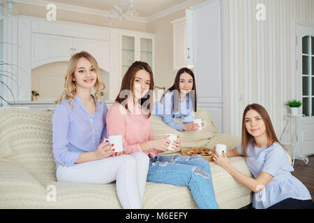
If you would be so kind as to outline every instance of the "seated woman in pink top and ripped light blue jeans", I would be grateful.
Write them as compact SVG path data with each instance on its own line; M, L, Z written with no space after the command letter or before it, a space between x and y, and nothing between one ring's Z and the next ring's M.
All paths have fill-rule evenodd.
M107 122L107 137L123 136L124 154L143 153L149 157L147 181L188 186L199 208L219 208L211 182L209 162L201 156L158 155L167 151L167 137L154 139L151 128L154 76L149 65L135 61L122 80L116 102L110 107ZM179 151L180 141L172 148ZM144 172L137 169L144 179ZM145 178L146 180L146 178ZM139 184L143 184L142 181ZM141 191L144 194L144 190ZM142 195L142 194L141 194Z

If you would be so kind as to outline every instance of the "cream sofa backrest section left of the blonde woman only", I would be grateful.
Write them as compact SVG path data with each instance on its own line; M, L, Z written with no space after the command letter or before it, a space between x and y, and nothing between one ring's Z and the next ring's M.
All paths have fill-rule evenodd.
M16 162L36 174L54 173L52 112L26 109L0 111L0 158Z

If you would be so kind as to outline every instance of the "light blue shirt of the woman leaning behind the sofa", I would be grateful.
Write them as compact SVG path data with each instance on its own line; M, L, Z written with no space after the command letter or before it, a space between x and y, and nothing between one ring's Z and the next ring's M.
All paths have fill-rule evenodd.
M165 93L163 103L156 102L151 114L163 117L163 122L175 130L183 132L182 126L190 123L194 119L195 112L193 110L193 102L190 98L190 93L181 101L179 98L178 112L173 109L174 93L173 91ZM182 123L176 123L172 118L182 118Z

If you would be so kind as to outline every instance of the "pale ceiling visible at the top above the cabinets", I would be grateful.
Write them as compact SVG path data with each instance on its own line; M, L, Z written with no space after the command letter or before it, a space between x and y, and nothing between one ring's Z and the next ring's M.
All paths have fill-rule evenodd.
M138 13L137 16L149 17L187 1L190 0L133 0L133 5ZM70 6L80 6L105 11L112 9L114 4L119 7L121 6L121 0L50 0L50 3L62 3Z

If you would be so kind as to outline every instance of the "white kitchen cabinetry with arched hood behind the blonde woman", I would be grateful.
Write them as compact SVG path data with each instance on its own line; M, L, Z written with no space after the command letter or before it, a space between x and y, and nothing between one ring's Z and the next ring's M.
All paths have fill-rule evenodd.
M67 62L73 54L81 51L87 51L96 58L106 85L104 99L107 102L116 98L124 72L134 61L146 61L154 72L155 43L152 33L73 22L47 21L43 18L24 15L20 15L16 21L12 21L3 20L3 26L0 28L4 31L3 40L14 43L4 50L3 61L18 66L15 69L17 84L10 78L4 80L12 89L17 104L31 102L32 70L40 68L40 73L43 74L46 65L49 64L47 69L50 74L45 77L49 76L50 81L45 81L44 77L40 77L38 83L46 82L56 85L57 81L51 82L51 78L54 78L52 77L52 64L58 63L59 66L59 62ZM132 37L133 40L128 41L125 48L122 46L122 40L127 37ZM18 47L16 47L17 45ZM134 51L131 58L128 55L130 45L133 45ZM49 88L42 86L40 91L43 89ZM13 102L10 92L5 91L3 95ZM53 104L52 100L50 102L45 100L43 99L43 103Z

